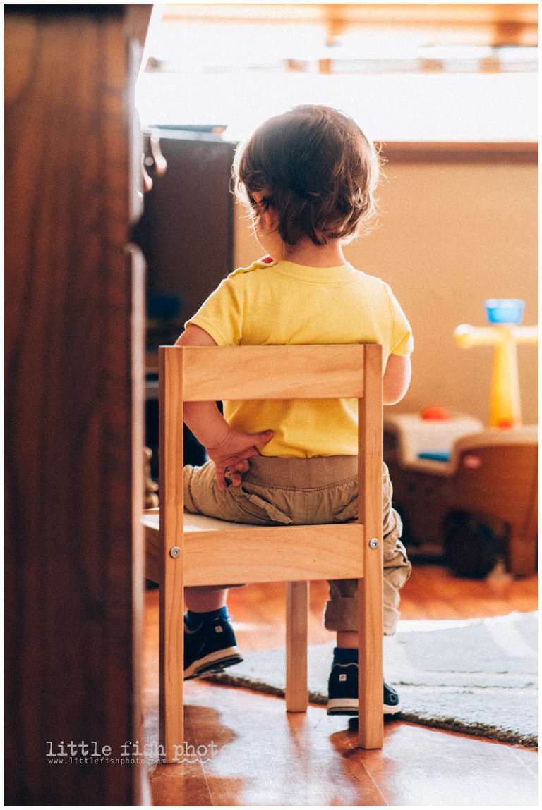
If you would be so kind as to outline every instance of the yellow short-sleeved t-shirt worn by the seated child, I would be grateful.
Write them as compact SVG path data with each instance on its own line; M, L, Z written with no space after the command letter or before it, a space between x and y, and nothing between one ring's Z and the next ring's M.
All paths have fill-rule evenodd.
M389 285L355 270L294 262L254 262L234 271L188 324L219 346L380 343L390 354L412 352L411 327ZM269 369L273 373L273 369ZM232 427L271 429L263 455L310 458L357 453L357 403L351 399L224 403Z

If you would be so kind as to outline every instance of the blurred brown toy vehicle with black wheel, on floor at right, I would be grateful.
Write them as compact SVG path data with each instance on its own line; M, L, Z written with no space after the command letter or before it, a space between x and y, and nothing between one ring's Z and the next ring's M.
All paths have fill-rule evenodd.
M413 559L443 560L471 578L485 577L499 559L518 576L536 570L536 425L501 430L461 414L387 416L384 458Z

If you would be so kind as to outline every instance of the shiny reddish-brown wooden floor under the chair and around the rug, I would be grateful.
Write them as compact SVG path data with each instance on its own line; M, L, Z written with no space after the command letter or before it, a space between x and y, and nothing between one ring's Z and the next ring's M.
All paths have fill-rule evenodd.
M325 583L311 587L312 643L321 626ZM402 591L402 619L466 619L537 608L538 578L495 573L483 582L416 565ZM230 591L239 646L283 642L283 586ZM157 591L146 594L144 696L147 741L157 741ZM538 755L525 748L385 724L381 751L355 750L347 718L321 706L286 714L284 702L244 689L187 682L186 754L192 762L151 770L162 807L531 807L538 805ZM207 761L205 761L207 760Z

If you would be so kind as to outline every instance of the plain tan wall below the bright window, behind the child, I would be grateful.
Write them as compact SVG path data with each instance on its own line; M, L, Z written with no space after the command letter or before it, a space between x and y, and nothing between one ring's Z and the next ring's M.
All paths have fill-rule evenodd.
M390 151L380 227L346 248L389 282L415 335L413 380L397 411L442 405L488 420L493 348L460 349L454 329L482 326L486 298L523 298L537 322L536 155L405 156ZM235 263L261 250L239 211ZM537 347L518 347L523 422L537 421Z

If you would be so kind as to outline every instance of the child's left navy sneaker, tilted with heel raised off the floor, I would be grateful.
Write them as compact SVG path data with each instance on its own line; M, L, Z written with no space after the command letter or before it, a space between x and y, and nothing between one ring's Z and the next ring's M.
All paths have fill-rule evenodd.
M184 680L197 678L204 672L219 672L243 661L236 645L234 629L227 618L202 620L193 630L188 629L185 620Z

